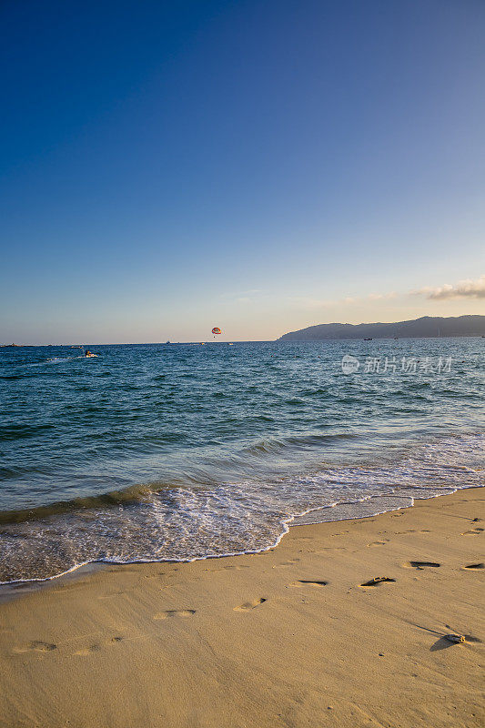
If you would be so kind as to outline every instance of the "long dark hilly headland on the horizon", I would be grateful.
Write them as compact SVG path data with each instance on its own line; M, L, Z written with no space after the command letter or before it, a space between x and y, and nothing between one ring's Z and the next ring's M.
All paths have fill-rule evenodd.
M392 324L318 324L290 331L278 341L323 339L419 339L423 337L485 336L485 316L423 316Z

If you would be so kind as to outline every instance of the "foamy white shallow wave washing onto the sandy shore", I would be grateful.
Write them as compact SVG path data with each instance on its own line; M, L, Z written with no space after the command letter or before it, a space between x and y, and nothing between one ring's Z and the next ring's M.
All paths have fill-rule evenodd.
M268 550L291 524L375 515L483 485L484 444L482 434L460 435L386 462L278 480L137 486L31 511L0 530L0 581L50 579L91 561L194 561Z

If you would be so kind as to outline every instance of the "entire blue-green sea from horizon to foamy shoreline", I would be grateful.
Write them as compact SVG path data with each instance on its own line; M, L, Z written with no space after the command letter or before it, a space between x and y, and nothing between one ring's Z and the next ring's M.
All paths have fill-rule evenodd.
M261 551L483 484L485 339L91 349L0 349L2 582Z

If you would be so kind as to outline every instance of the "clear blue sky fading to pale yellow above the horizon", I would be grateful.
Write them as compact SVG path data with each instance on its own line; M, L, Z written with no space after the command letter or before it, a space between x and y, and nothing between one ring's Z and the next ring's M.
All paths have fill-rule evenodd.
M0 340L485 313L481 0L6 0L0 27Z

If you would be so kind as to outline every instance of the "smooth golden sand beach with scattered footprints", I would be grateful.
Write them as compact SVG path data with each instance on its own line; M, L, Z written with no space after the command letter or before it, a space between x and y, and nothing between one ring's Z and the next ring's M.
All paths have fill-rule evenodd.
M0 605L0 725L481 726L484 500L18 590ZM376 576L393 581L362 586Z

